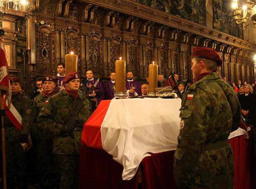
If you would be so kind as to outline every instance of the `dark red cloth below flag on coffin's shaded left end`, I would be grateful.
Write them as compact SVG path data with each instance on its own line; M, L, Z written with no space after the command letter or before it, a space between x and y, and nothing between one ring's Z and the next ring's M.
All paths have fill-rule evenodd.
M138 172L131 180L122 180L123 166L104 150L82 145L79 189L135 189Z

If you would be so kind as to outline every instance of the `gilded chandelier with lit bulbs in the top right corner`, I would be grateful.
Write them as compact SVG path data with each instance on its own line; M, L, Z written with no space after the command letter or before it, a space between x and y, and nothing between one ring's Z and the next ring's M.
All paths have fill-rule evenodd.
M238 7L237 0L234 0L232 7L234 8L234 20L237 24L248 26L251 20L256 27L256 5L254 2L247 0L243 3L243 7Z

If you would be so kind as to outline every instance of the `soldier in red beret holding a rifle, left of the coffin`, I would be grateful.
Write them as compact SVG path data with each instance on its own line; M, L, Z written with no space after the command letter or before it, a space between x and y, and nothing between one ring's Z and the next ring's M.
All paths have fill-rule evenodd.
M78 128L66 125L73 110L77 107L82 96L78 93L80 75L71 72L66 75L66 89L50 96L37 118L37 124L42 130L54 134L53 153L60 161L61 184L60 189L77 189L79 181L79 154L83 124ZM85 123L91 115L91 105L86 99L77 117ZM74 135L74 138L70 136Z

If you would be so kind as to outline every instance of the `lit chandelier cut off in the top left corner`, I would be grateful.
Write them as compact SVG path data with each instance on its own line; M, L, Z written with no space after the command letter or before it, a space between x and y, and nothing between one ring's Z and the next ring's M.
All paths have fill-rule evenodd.
M21 6L25 4L26 0L0 0L0 12L7 13L10 8L16 11L21 10Z

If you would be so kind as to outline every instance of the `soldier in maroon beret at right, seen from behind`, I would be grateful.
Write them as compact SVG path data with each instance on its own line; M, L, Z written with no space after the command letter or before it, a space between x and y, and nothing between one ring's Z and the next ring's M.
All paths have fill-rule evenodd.
M215 72L222 59L214 49L194 47L193 77L181 104L174 177L181 189L234 188L234 156L228 137L239 128L235 91Z

